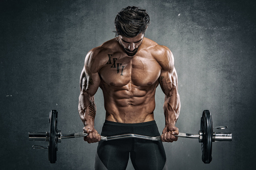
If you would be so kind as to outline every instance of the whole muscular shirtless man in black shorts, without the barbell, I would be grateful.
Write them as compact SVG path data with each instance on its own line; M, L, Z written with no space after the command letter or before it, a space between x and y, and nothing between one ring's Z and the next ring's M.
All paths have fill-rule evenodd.
M115 18L116 37L92 49L81 73L79 113L88 133L85 141L98 142L96 169L125 169L131 157L135 169L166 168L162 141L176 141L180 101L171 51L144 37L149 16L138 7L122 9ZM165 128L161 140L100 141L94 128L94 95L103 91L106 120L101 135L135 133L159 136L154 120L155 92L165 94Z

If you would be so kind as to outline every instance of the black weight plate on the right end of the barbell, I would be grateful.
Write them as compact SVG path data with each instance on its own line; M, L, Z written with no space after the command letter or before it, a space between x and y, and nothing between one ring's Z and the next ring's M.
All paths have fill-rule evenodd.
M203 132L202 160L204 163L210 163L212 161L213 122L209 110L203 111L200 130Z

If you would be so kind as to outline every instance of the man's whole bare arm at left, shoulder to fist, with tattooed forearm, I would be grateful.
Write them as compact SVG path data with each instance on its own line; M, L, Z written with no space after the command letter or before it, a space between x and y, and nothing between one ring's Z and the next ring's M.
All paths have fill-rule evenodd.
M94 103L94 95L100 84L100 76L95 66L93 51L90 51L85 58L85 65L80 76L80 95L78 111L84 123L84 132L88 136L84 140L88 143L100 141L100 135L94 129L94 119L96 115L96 106Z

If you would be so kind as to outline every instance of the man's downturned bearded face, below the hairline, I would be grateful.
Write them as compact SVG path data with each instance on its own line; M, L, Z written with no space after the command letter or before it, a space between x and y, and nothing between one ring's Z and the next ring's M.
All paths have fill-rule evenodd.
M133 38L127 38L119 35L118 41L128 56L134 56L137 53L138 48L142 44L143 38L143 33L140 33Z

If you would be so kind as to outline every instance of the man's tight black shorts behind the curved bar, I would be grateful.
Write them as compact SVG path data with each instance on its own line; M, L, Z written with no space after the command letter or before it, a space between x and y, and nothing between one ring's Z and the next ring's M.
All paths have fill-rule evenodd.
M117 123L106 120L101 135L113 136L127 133L160 136L154 120L143 123ZM157 170L165 167L166 155L161 140L125 138L99 141L95 169L125 169L129 156L135 169Z

